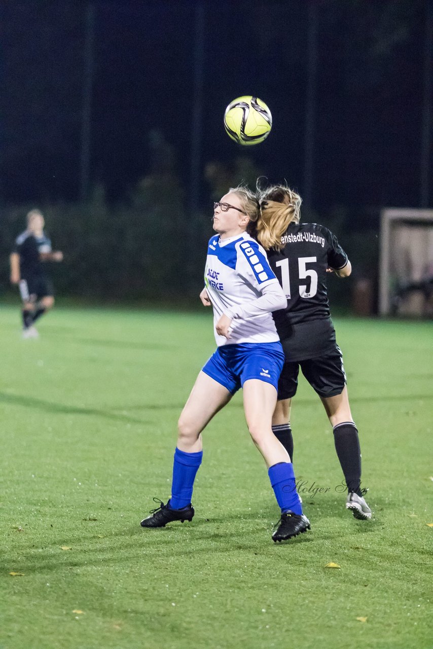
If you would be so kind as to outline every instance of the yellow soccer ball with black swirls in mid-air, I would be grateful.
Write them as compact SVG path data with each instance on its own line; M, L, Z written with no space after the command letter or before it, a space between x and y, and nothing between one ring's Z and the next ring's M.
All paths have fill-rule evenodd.
M225 109L224 127L229 138L238 144L246 147L258 144L271 132L271 111L258 97L238 97Z

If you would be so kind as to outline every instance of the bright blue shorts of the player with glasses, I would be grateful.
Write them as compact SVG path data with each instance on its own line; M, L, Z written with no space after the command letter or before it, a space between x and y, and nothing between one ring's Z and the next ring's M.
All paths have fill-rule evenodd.
M241 343L217 347L203 372L234 395L250 378L270 383L278 390L283 365L281 343Z

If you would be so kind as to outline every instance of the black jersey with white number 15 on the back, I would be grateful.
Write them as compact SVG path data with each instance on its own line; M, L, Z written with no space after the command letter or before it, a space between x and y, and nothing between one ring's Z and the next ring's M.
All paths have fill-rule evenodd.
M287 308L273 313L278 336L293 360L315 358L336 345L326 271L343 268L347 254L334 234L317 223L291 223L281 239L281 251L267 252L287 298Z

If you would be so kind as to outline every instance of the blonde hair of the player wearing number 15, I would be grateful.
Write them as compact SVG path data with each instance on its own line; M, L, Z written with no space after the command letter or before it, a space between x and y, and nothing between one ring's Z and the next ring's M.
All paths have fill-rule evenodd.
M256 223L256 237L265 250L284 248L281 238L290 223L299 223L302 199L284 185L273 185L258 190L260 217Z

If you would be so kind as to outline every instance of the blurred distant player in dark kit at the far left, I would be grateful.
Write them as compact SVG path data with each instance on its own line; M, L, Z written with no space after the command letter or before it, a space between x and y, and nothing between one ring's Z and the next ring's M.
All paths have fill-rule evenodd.
M61 262L63 253L51 250L51 241L43 232L43 214L31 210L27 214L27 230L16 239L10 255L10 281L19 284L23 300L23 337L36 338L34 323L54 304L53 283L45 273L44 262Z

